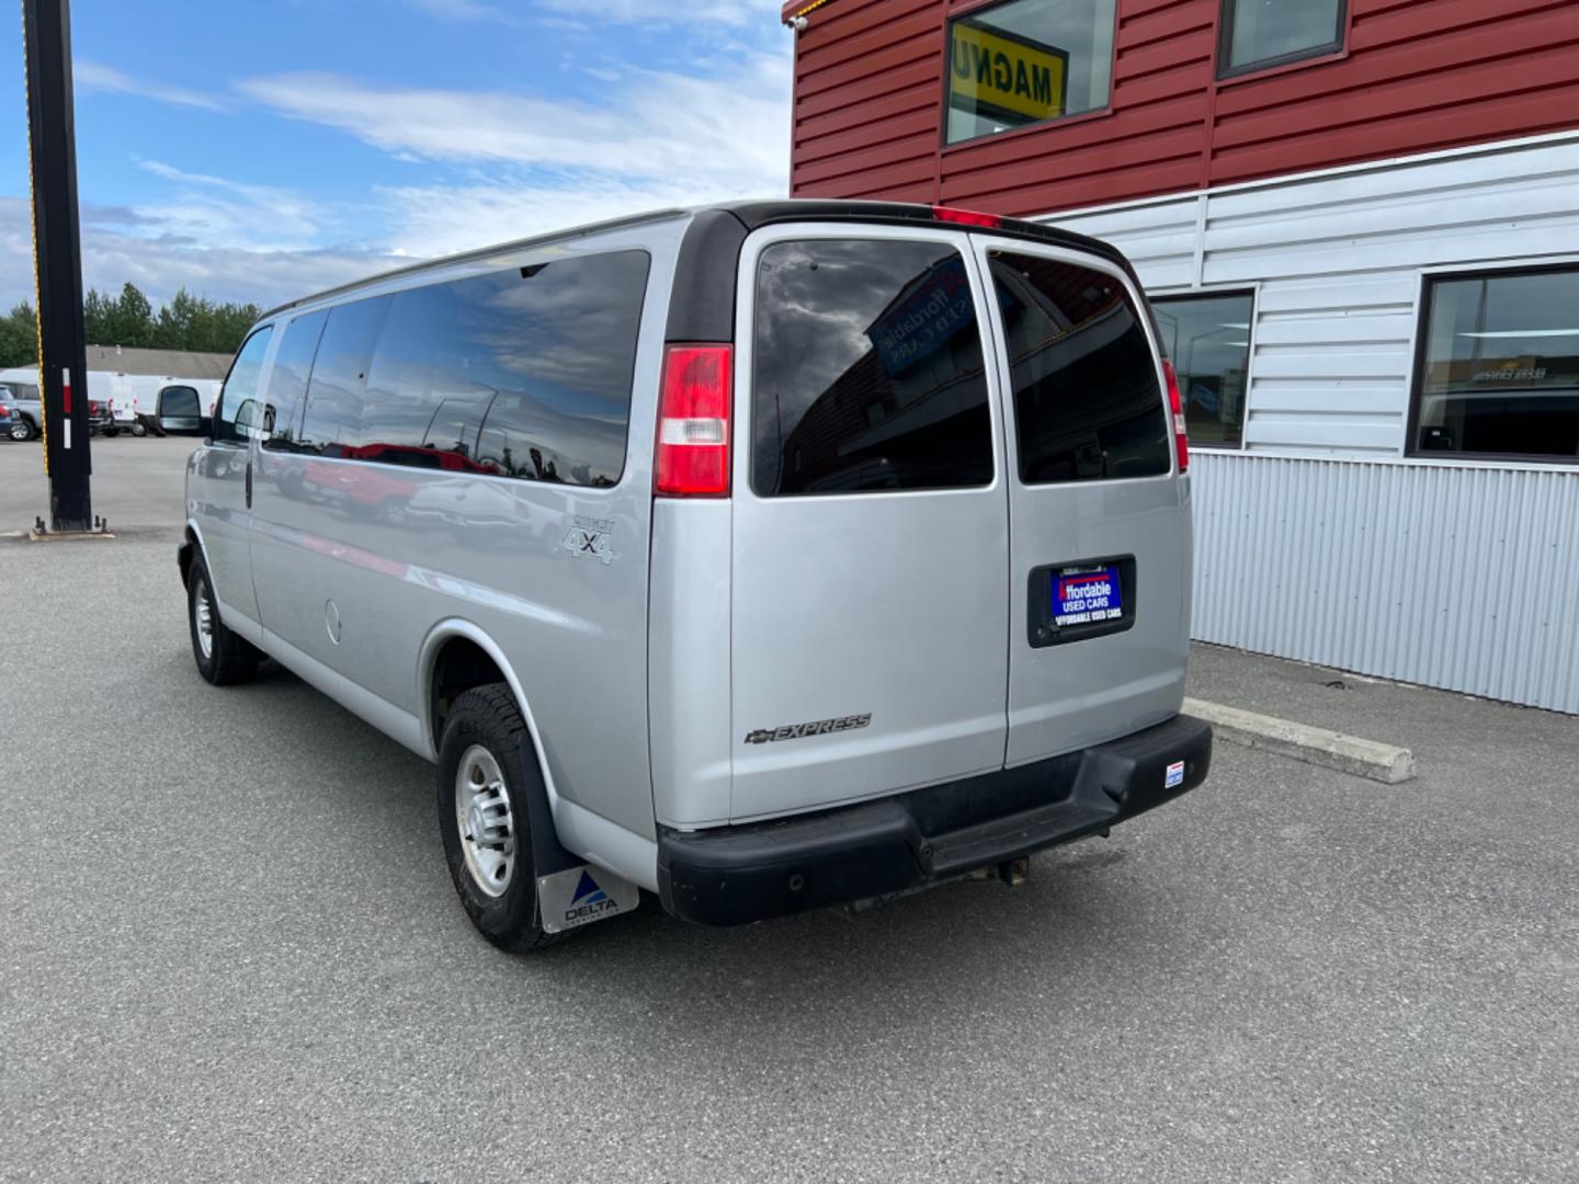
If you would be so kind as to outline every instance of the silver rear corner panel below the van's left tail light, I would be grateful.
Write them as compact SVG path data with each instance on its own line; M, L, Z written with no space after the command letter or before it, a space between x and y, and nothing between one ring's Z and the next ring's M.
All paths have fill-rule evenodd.
M663 826L729 821L729 523L726 500L654 504L647 710Z

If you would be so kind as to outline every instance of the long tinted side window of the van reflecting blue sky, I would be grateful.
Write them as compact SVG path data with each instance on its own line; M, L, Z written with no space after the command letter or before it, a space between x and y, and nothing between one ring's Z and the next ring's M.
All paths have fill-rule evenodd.
M376 328L369 313L355 333L341 317L357 305L332 309L302 447L614 485L625 467L647 268L646 251L614 251L428 284L381 297L387 311Z

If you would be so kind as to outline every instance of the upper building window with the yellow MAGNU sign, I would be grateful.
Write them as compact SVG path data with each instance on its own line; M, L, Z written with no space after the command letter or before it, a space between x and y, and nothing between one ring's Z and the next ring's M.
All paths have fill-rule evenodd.
M949 22L944 141L1107 106L1115 0L1009 0Z

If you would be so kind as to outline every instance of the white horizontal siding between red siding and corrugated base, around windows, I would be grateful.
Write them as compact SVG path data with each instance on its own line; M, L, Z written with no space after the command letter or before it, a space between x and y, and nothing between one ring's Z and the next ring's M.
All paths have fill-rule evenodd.
M1257 289L1247 451L1401 456L1421 276L1579 256L1579 137L1048 221L1116 243L1153 295Z

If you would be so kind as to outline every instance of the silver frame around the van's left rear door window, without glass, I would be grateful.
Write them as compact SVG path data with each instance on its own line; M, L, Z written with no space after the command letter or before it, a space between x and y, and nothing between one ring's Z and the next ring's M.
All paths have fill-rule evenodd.
M976 320L982 341L982 374L987 382L987 415L992 428L992 480L985 485L960 485L941 489L837 489L788 496L759 494L756 491L753 485L756 459L756 450L753 447L756 439L756 384L753 371L756 366L755 325L758 303L758 262L767 248L778 243L807 240L843 242L850 238L941 243L958 251L960 257L965 260L965 273L970 276L971 300L976 305ZM731 488L734 491L733 497L750 497L753 502L761 502L764 505L796 505L864 497L977 497L990 494L992 491L1001 491L1004 488L1004 481L1007 480L1006 474L1009 472L1009 455L1004 444L1007 423L1004 420L1003 407L1003 382L998 373L998 363L992 357L992 352L995 350L992 335L996 325L987 316L982 305L982 302L988 297L984 284L985 279L981 273L981 265L976 251L971 246L970 235L952 227L933 227L924 223L917 223L916 226L884 226L880 223L772 223L753 230L745 240L745 245L741 248L741 262L736 270L733 384L734 425L731 428L733 445L729 458Z

